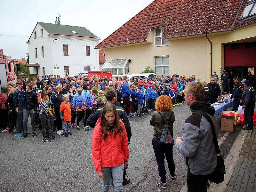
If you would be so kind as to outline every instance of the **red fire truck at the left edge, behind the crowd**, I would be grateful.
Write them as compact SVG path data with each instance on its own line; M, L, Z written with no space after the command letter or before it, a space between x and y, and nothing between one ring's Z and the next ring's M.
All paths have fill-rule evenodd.
M8 83L16 84L17 76L16 76L16 63L11 58L4 57L3 49L0 49L0 92L2 92L2 87L6 87ZM20 63L16 63L17 68L20 67Z

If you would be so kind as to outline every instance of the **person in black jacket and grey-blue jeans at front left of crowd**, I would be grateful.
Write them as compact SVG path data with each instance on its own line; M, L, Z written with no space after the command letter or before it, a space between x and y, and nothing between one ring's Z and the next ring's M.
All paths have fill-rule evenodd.
M32 84L26 85L26 93L24 96L24 108L23 108L23 128L24 134L21 138L28 136L28 116L31 118L31 125L33 130L33 137L36 136L36 109L38 107L38 100L36 93L32 92Z

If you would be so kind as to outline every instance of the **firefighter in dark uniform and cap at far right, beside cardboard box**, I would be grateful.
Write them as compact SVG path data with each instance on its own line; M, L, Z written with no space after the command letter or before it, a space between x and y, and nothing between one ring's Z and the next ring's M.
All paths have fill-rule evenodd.
M255 90L251 86L249 80L244 81L244 93L242 95L244 102L242 108L244 109L244 122L245 125L242 129L252 129L252 116L255 107Z

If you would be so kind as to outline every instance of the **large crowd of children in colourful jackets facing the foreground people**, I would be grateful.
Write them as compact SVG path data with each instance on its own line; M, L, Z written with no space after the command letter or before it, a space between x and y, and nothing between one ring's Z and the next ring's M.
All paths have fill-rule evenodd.
M16 84L2 87L2 132L26 138L30 134L27 130L28 116L31 118L32 136L37 137L36 128L42 129L44 142L55 139L56 129L59 135L72 135L70 127L80 130L80 122L83 122L83 130L90 131L87 118L97 108L105 106L109 89L116 91L116 105L123 107L128 117L144 116L149 111L156 112L155 102L160 95L168 95L173 107L183 103L185 82L194 78L174 74L167 79L164 75L148 79L135 77L127 82L124 76L123 79L115 78L110 84L106 76L100 79L97 75L89 79L86 76L80 79L68 76L62 80L60 75L48 79L44 76L42 80L36 76L31 82L28 78L21 78Z

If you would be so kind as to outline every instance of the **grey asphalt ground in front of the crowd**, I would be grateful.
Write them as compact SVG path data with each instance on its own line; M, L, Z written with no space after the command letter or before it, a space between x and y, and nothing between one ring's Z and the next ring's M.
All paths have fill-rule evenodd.
M131 183L124 186L124 191L163 191L155 184L159 175L151 144L152 113L130 119L132 139L127 178L131 178ZM182 125L191 113L186 104L175 107L174 113L176 137L182 135ZM37 138L29 135L25 139L1 132L0 191L100 191L102 181L96 175L91 157L92 131L72 128L72 133L68 137L56 135L55 140L44 143L40 130ZM176 149L173 156L177 180L171 182L167 172L169 188L165 191L175 192L186 183L187 175L183 156ZM112 186L110 191L114 191Z

